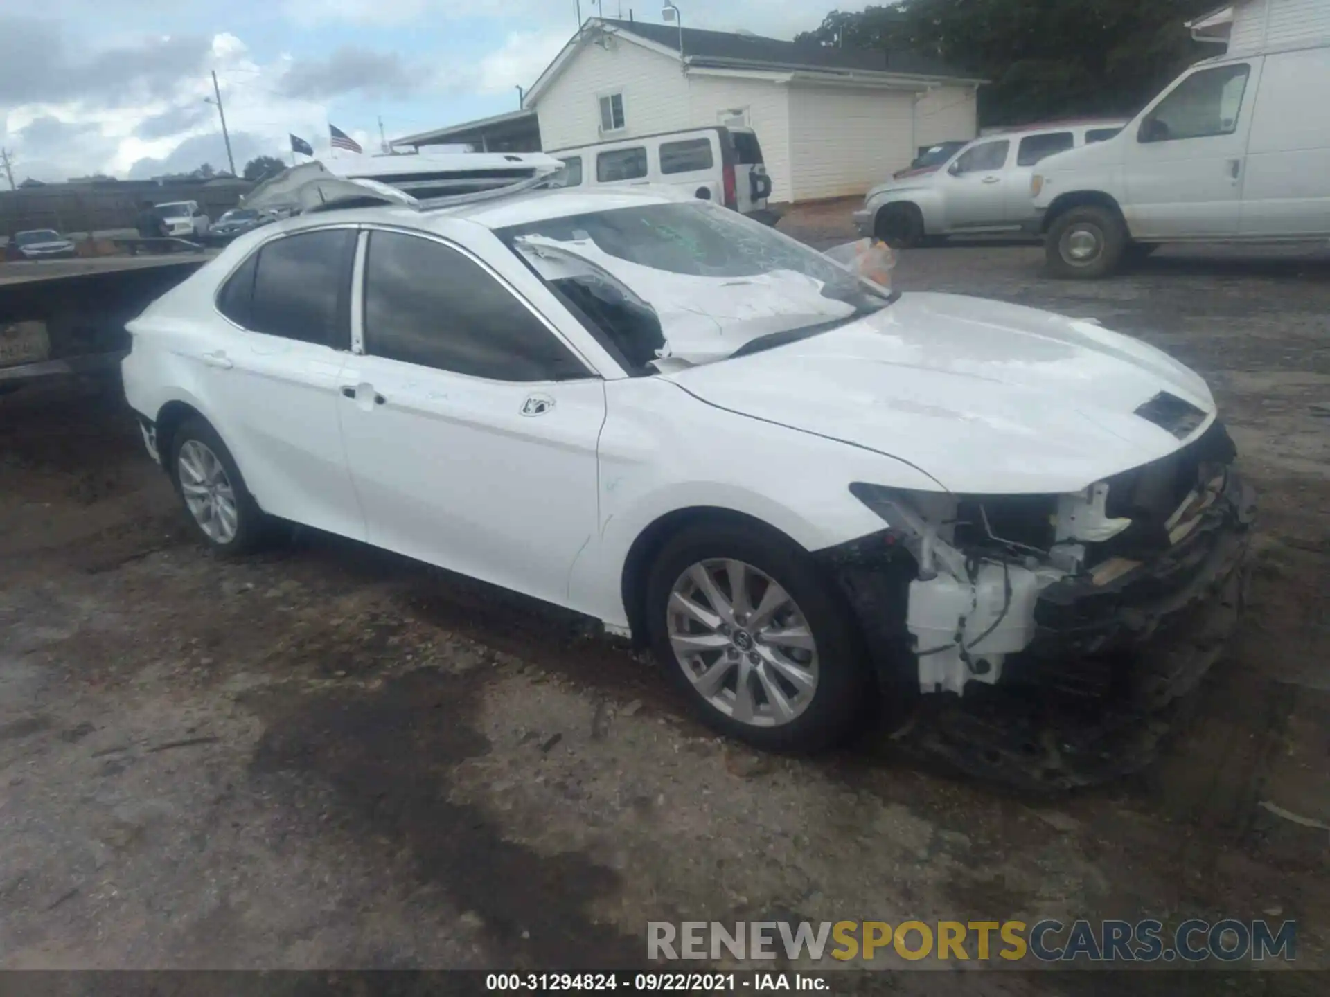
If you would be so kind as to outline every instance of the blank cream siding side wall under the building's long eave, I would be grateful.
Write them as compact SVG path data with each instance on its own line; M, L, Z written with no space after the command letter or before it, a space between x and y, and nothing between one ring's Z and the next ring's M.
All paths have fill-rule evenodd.
M914 94L790 88L791 199L863 194L914 158Z

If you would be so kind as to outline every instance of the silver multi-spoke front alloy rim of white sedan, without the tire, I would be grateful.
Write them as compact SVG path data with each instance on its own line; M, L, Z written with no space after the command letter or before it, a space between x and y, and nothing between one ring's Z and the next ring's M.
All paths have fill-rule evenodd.
M798 604L765 572L735 560L694 564L674 582L668 615L678 666L720 713L779 727L809 709L817 641Z

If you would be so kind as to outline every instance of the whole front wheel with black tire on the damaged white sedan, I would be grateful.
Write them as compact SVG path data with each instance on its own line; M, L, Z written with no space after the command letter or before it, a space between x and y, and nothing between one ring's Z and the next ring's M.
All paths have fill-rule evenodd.
M853 614L813 558L774 530L685 528L652 566L646 614L656 657L721 734L815 751L866 719L871 677Z

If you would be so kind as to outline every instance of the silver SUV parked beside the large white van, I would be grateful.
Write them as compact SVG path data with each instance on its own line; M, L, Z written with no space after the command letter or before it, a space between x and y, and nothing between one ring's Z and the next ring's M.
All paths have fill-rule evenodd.
M863 235L918 246L946 235L1013 233L1035 215L1035 164L1067 149L1112 138L1121 120L1048 122L1000 132L952 153L942 169L891 179L868 191L854 213Z

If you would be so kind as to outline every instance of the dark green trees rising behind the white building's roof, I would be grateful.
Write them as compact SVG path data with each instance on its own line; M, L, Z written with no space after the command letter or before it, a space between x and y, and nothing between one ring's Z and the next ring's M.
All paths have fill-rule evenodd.
M902 0L833 11L795 41L918 52L988 80L983 125L1134 114L1180 69L1214 55L1184 21L1214 0Z

